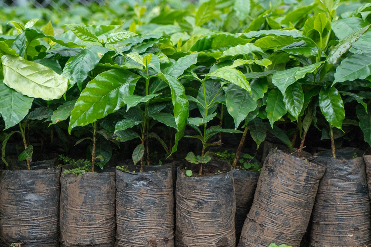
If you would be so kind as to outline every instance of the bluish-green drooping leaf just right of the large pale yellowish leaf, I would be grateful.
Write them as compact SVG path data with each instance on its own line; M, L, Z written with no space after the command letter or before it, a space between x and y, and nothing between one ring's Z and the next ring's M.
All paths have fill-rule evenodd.
M95 68L105 53L109 49L101 46L92 46L82 50L79 55L73 57L69 66L65 69L70 70L73 80L75 80L81 90L83 81L88 77L88 73ZM64 70L65 70L64 69Z

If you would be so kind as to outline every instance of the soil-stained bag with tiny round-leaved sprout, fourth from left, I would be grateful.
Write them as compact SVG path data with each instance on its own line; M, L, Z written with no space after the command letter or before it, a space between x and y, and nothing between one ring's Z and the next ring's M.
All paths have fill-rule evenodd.
M226 161L209 163L204 167L224 166L229 171L212 176L186 177L183 167L178 167L176 247L236 246L232 167ZM187 167L191 166L187 164Z

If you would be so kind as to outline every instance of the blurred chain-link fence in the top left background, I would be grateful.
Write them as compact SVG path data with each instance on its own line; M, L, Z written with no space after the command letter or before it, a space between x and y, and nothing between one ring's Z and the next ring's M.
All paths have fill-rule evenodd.
M88 5L92 2L103 3L104 0L0 0L0 7L30 4L36 8L52 8L58 10L61 7L68 9L75 4Z

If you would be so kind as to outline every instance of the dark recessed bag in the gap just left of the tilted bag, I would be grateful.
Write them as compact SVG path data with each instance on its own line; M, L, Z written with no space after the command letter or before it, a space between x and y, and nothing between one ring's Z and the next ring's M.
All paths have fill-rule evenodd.
M236 214L234 227L236 228L236 241L239 242L243 223L253 204L259 172L241 171L233 169L234 194L236 195Z

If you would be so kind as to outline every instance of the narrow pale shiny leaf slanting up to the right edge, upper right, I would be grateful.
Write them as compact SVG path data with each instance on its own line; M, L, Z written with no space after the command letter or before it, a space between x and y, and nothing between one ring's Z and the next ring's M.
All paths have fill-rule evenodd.
M362 34L367 32L370 26L371 24L355 30L353 33L340 40L340 42L328 54L325 63L325 70L328 71L336 62L338 62L340 57L352 47L352 44L356 42Z

